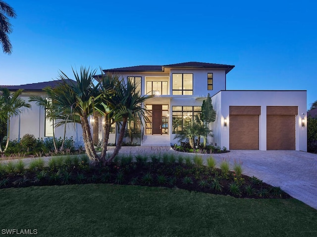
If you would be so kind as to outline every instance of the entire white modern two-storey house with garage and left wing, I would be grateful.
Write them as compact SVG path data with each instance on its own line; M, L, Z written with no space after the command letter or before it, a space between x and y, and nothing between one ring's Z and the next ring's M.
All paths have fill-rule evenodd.
M133 66L104 70L118 73L125 80L139 85L142 95L153 94L145 103L148 119L131 124L128 129L140 129L141 136L133 142L141 146L170 146L178 141L176 132L193 122L201 112L203 100L211 95L216 120L211 123L213 137L208 142L229 150L300 150L307 151L307 92L305 90L227 90L226 76L232 65L187 62L161 66ZM43 93L42 82L12 86L23 88L23 96ZM45 86L44 86L45 85ZM27 126L22 126L28 124ZM102 119L90 118L94 141L102 139ZM11 122L11 138L25 133L38 137L50 135L45 110L32 105L30 112ZM59 131L55 130L56 134ZM81 127L67 130L80 143ZM60 135L59 135L60 136ZM117 139L113 124L109 143ZM129 142L129 136L126 142Z

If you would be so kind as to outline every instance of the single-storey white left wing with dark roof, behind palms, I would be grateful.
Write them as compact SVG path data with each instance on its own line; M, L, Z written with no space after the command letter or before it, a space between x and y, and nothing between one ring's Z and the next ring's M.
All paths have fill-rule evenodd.
M31 104L30 109L24 109L24 112L18 117L11 118L10 121L10 140L20 140L25 134L33 134L36 138L53 137L53 122L46 118L45 109L36 105L36 102L28 102L30 95L39 95L45 97L42 90L47 86L55 87L60 83L59 80L52 80L39 83L24 85L0 85L10 91L23 89L21 98ZM64 127L56 127L55 137L63 137ZM73 137L75 146L83 146L82 129L80 124L69 123L66 129L66 137Z

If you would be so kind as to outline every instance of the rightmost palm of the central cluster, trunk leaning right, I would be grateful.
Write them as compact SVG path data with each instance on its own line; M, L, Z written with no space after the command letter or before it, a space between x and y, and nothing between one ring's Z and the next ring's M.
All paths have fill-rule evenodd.
M152 97L154 95L141 96L138 93L137 85L130 80L127 83L121 81L119 86L115 87L114 94L107 99L107 102L111 105L116 105L115 113L121 117L122 125L117 144L110 158L107 159L107 163L111 162L121 149L127 123L132 120L136 122L141 116L145 118L145 109L142 105L145 100Z

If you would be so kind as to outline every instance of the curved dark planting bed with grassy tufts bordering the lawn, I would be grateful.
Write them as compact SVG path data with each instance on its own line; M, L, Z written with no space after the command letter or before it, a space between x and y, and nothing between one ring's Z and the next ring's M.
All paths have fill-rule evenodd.
M151 162L149 162L151 161ZM91 166L86 156L53 157L44 167L41 158L24 168L23 161L0 166L0 188L47 186L85 183L109 183L153 187L179 188L190 191L230 195L245 198L290 198L279 187L272 187L256 177L242 175L241 164L230 170L223 160L215 168L212 157L203 165L198 155L194 158L132 155L117 156L110 165Z

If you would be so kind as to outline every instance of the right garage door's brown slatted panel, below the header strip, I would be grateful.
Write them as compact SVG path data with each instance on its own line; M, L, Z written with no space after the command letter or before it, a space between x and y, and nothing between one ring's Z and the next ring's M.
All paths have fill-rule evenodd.
M295 115L266 116L266 150L295 150Z

